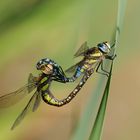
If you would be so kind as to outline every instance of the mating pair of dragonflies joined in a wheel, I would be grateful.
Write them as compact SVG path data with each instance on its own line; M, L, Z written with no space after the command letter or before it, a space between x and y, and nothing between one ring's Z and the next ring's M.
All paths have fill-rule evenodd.
M67 77L62 67L53 60L48 58L41 59L36 64L37 70L40 71L39 76L35 77L30 74L28 83L25 86L15 92L0 97L0 108L8 107L35 90L35 93L17 117L11 129L14 129L21 122L29 110L35 111L40 105L41 99L49 105L61 107L69 103L76 96L92 73L97 72L108 77L109 72L104 69L103 61L105 59L113 60L115 58L116 55L109 55L113 46L110 46L107 42L102 42L96 47L89 48L87 42L83 43L74 55L75 57L82 56L83 59L65 71L73 73L71 77ZM52 81L69 83L74 82L79 77L82 77L80 82L66 98L58 100L51 93L50 86Z

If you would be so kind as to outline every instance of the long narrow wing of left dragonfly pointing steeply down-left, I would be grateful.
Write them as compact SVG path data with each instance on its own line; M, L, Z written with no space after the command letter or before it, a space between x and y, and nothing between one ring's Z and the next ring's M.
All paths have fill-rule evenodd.
M11 127L11 130L13 130L17 125L20 124L20 122L24 119L24 117L26 116L26 114L32 110L33 105L36 101L36 97L38 95L38 92L35 92L33 94L33 96L31 97L31 99L29 100L28 104L26 105L26 107L23 109L23 111L21 112L21 114L17 117L17 119L15 120L13 126Z

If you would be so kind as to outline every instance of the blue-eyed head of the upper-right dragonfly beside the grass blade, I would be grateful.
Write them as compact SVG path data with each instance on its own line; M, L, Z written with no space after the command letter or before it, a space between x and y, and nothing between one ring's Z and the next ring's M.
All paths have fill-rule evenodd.
M111 50L110 44L108 42L99 43L97 47L104 54L108 54Z

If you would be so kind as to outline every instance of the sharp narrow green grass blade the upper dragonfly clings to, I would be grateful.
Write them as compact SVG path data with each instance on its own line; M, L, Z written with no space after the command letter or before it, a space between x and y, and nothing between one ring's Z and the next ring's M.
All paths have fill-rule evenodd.
M117 28L116 28L116 33L114 34L115 36L113 37L114 40L111 41L111 42L115 42L115 49L116 49L116 46L118 45L119 35L120 35L120 31L121 31L122 25L123 25L126 2L127 2L127 0L119 0L118 1ZM115 49L113 51L113 54L115 53ZM111 63L111 67L110 67L110 76L109 76L107 83L106 83L104 94L103 94L103 97L101 100L101 104L99 106L99 110L98 110L98 113L97 113L97 116L95 119L95 123L94 123L93 128L92 128L89 140L100 140L101 139L101 132L102 132L105 111L106 111L106 107L107 107L107 100L108 100L108 95L109 95L112 68L113 68L113 61Z

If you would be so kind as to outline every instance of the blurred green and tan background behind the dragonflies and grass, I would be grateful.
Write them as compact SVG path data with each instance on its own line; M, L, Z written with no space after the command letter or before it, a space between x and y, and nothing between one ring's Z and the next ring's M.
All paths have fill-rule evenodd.
M139 4L128 1L117 49L103 140L139 139ZM7 0L0 1L0 93L16 90L37 74L41 58L55 60L63 69L78 60L73 54L84 42L89 46L110 40L117 18L117 1ZM68 105L55 108L42 102L14 130L10 127L31 95L0 110L0 140L70 140L99 75L92 76ZM53 83L52 91L64 98L77 84Z

